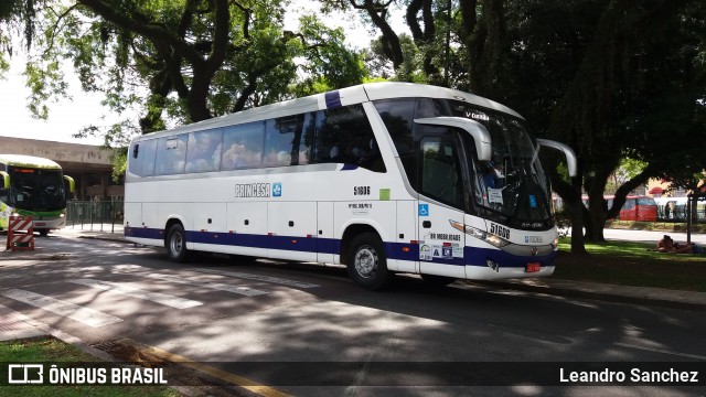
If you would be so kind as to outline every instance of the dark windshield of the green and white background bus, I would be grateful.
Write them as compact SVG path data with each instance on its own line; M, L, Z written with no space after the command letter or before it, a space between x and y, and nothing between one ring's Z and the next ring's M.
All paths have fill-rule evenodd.
M66 207L61 170L8 167L9 205L19 210L56 211Z

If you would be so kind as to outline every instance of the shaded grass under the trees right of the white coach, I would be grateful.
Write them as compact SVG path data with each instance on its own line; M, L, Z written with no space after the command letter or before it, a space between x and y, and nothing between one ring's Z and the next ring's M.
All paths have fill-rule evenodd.
M554 277L706 292L706 255L663 254L632 242L587 243L588 255L570 253L570 238L559 244Z

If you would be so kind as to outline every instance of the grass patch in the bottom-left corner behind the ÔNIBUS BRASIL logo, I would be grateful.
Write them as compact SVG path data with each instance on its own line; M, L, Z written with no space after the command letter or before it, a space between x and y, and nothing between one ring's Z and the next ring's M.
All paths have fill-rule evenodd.
M83 353L74 345L64 343L53 337L19 340L0 342L0 357L2 365L0 374L1 397L10 396L36 396L36 397L81 397L81 396L107 396L107 397L176 397L175 390L165 386L55 386L55 385L21 385L6 386L8 382L8 364L45 364L44 379L49 378L46 368L52 363L99 363L100 360ZM66 365L58 365L66 367Z

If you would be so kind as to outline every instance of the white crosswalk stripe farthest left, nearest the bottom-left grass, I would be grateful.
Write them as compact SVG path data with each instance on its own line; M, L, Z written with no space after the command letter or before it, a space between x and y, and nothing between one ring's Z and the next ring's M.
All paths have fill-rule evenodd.
M20 302L31 304L35 308L40 308L58 315L69 318L93 328L104 326L122 321L122 319L119 319L115 315L106 314L97 310L79 307L71 302L62 301L25 290L9 289L7 291L2 291L2 294L10 299L14 299Z

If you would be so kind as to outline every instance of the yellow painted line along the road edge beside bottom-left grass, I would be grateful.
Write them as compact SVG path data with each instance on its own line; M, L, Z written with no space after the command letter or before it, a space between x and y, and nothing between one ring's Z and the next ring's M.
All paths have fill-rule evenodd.
M189 360L184 356L180 356L178 354L174 353L170 353L167 351L163 351L159 347L154 347L154 346L148 346L138 342L135 342L132 340L129 339L121 339L119 341L117 341L117 343L119 344L125 344L128 346L132 346L139 351L143 351L148 354L154 355L159 358L172 362L172 363L179 363L181 365L184 365L186 367L190 367L192 369L196 369L200 371L202 373L208 374L213 377L216 377L218 379L228 382L231 384L240 386L258 396L264 396L264 397L289 397L290 395L278 390L274 387L269 387L269 386L265 386L265 385L260 385L255 380L250 380L248 378L245 378L243 376L238 376L235 374L231 374L229 372L223 371L223 369L218 369L216 367L203 364L203 363L196 363L192 360Z

